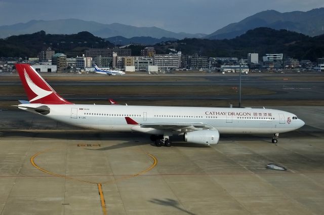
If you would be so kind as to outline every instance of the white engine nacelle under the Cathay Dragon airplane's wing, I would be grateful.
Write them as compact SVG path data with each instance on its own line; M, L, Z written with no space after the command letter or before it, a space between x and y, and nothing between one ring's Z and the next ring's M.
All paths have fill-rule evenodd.
M184 141L192 142L193 144L218 144L218 130L197 130L184 133Z

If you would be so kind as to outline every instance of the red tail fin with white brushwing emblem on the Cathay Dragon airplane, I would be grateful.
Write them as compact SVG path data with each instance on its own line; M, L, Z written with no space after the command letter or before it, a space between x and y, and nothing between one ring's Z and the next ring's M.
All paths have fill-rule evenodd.
M22 85L30 103L72 104L62 98L29 64L16 64Z

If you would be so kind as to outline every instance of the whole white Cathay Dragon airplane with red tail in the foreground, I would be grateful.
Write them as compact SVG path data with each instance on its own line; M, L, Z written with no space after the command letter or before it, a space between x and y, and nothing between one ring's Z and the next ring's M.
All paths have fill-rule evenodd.
M223 133L273 134L276 143L279 133L305 124L292 113L272 109L73 104L29 64L16 64L16 69L29 99L19 109L84 128L148 133L158 147L171 146L172 135L195 144L217 144Z

